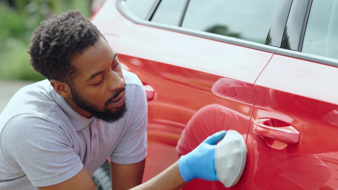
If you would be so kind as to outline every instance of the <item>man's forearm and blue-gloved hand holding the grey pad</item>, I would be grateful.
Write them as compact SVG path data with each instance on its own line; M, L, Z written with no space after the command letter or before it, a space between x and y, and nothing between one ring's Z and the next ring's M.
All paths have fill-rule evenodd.
M131 190L179 190L195 178L218 181L215 148L216 143L224 136L225 130L209 136L193 151L180 157L162 173Z

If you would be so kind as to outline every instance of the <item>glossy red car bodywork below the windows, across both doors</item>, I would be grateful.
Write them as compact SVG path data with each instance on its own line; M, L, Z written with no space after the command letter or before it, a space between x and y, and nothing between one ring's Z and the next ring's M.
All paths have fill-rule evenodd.
M235 129L247 139L248 157L230 189L338 188L338 68L138 25L115 1L92 22L148 89L143 181L207 136ZM225 187L198 179L184 187L196 189Z

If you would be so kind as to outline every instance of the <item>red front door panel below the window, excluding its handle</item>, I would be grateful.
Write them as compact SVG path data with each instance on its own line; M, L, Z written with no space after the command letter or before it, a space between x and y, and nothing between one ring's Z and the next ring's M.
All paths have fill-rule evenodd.
M338 188L338 68L273 55L257 79L243 189ZM253 132L254 120L293 126L296 145Z

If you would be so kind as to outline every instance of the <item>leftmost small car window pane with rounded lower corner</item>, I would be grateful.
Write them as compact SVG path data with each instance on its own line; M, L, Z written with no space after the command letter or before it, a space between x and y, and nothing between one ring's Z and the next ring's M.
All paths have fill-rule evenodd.
M139 17L140 19L146 19L152 5L155 0L125 0L126 6L132 14Z

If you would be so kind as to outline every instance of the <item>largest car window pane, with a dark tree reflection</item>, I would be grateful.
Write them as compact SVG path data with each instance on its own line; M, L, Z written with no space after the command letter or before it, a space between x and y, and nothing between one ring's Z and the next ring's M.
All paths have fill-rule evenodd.
M279 0L190 0L182 27L265 43Z

